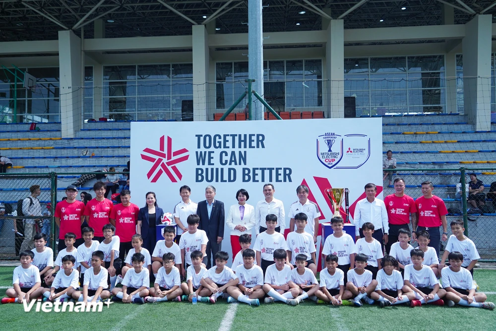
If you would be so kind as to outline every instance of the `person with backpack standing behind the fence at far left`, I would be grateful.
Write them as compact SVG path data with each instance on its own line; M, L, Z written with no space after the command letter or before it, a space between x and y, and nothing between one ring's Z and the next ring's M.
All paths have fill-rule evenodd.
M31 196L22 200L22 213L24 216L41 216L41 204L37 198L41 194L40 186L33 185L29 188ZM24 241L21 244L20 252L30 251L34 248L34 236L36 235L35 223L38 219L24 219Z

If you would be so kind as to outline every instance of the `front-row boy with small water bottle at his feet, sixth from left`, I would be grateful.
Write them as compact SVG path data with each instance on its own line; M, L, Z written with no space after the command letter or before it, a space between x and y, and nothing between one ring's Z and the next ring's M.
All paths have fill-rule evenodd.
M208 289L203 288L201 285L201 278L207 277L208 270L202 265L203 253L201 251L194 251L191 253L191 263L186 270L186 283L181 283L183 290L183 301L193 301L193 294L196 294L196 300L201 301L201 294L210 295Z

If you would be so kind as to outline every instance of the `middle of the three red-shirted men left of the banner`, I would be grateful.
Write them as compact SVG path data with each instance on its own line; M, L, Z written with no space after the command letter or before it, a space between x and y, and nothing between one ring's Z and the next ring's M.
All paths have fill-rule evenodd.
M96 182L93 185L93 191L96 194L96 198L91 199L86 203L86 208L84 209L84 216L88 226L95 230L95 236L93 240L98 240L102 242L105 238L103 236L103 226L109 224L109 216L114 203L105 198L106 184L103 182Z

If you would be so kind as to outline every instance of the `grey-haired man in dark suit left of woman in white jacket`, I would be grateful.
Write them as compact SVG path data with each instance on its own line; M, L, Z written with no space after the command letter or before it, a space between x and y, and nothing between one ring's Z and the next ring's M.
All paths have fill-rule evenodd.
M205 188L206 200L198 202L196 214L200 216L198 229L207 233L208 243L206 250L206 261L203 263L209 269L215 265L215 254L221 250L222 238L224 237L225 211L224 202L215 200L215 188L209 185ZM213 263L210 263L213 260Z

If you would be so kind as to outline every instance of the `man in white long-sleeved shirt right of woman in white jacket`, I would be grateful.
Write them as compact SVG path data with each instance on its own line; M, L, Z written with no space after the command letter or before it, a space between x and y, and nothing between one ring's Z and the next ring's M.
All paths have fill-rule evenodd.
M274 189L274 185L265 184L263 186L263 195L265 196L265 199L258 201L255 206L256 235L267 230L267 228L261 226L260 224L265 224L265 216L267 216L268 214L274 214L277 216L277 227L275 228L275 231L284 234L284 229L286 228L284 204L281 200L274 198L275 192L276 190Z

